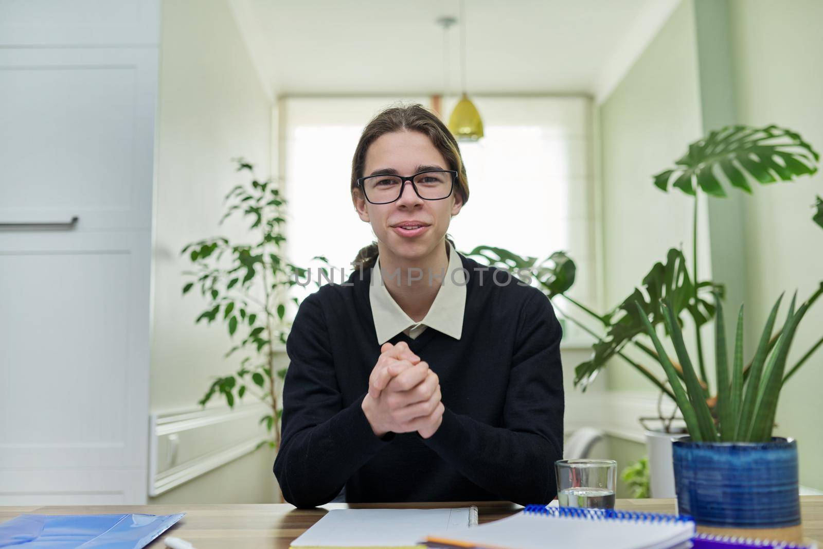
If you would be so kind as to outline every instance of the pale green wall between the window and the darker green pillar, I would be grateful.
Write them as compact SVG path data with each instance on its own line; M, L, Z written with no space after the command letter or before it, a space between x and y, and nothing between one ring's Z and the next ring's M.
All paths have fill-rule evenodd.
M652 176L673 165L702 135L698 78L693 3L684 0L600 105L607 307L619 305L635 286L642 286L643 277L654 263L666 260L670 248L682 246L691 273L694 199L677 189L663 193L653 186ZM702 216L699 226L705 226ZM699 240L703 278L710 272L704 230ZM713 337L707 330L701 333L709 361ZM663 369L648 357L630 346L625 351L665 379ZM657 390L621 359L611 361L607 371L611 388Z

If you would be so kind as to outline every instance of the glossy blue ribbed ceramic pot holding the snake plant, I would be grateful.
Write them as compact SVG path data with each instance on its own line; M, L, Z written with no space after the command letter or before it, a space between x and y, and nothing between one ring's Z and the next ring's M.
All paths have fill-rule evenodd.
M677 510L701 526L785 528L800 524L797 442L672 444Z

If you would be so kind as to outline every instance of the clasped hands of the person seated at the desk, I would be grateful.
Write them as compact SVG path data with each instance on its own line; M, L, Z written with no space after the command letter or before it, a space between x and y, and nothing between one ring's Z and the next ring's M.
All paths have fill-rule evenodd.
M417 431L424 439L435 434L445 409L437 374L406 342L380 347L361 407L374 435Z

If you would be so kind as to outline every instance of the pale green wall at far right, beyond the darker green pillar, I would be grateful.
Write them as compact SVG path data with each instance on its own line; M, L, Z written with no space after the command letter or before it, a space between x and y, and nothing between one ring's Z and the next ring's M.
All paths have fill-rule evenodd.
M776 123L823 149L823 3L819 0L734 0L732 54L740 123ZM823 174L794 183L758 185L746 199L746 319L759 337L774 300L797 289L805 300L823 280L823 229L811 204L823 195ZM785 307L785 305L784 305ZM785 309L783 309L785 310ZM783 322L783 319L780 319ZM823 302L803 319L789 355L793 365L823 336ZM751 343L752 345L754 342ZM823 489L823 350L788 381L778 405L778 434L797 439L800 482Z

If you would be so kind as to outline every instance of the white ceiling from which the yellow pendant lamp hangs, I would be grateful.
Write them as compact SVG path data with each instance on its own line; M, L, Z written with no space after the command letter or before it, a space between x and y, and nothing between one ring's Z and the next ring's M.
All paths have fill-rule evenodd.
M232 0L272 95L460 91L458 0ZM475 94L602 95L677 0L466 0Z

